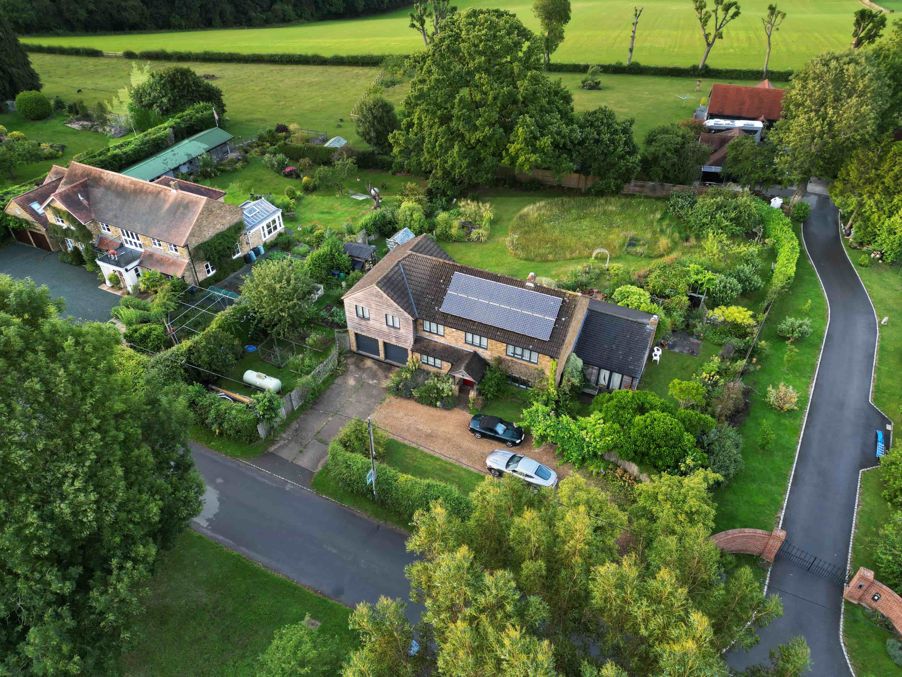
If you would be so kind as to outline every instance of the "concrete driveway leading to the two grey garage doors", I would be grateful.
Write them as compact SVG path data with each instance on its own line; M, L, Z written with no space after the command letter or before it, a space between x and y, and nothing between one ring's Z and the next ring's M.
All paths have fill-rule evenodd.
M394 367L356 353L347 353L345 361L345 371L319 395L314 408L292 422L255 463L263 468L269 468L269 463L283 467L267 459L272 456L290 461L308 471L295 476L295 481L300 478L309 487L309 478L326 463L329 441L345 426L345 417L365 419L388 394L383 384Z

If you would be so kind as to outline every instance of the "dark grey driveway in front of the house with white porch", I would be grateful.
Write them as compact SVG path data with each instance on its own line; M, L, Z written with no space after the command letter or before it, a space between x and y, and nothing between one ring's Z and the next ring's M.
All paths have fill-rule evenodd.
M32 278L46 284L54 298L66 300L66 315L81 320L106 322L110 310L119 305L119 297L97 289L97 273L81 266L60 262L57 252L47 252L14 242L0 249L0 273L17 279Z

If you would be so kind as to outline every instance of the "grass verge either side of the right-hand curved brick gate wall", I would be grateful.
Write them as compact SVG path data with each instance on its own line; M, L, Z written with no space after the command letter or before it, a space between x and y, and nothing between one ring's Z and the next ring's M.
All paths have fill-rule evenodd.
M880 527L889 519L890 510L886 500L880 493L883 491L883 478L880 470L870 470L861 476L861 505L858 509L858 521L855 526L855 539L851 550L851 571L859 567L867 567L880 574L874 561L874 545ZM873 619L864 614L864 609L854 604L845 605L846 623L844 635L849 649L849 657L859 674L870 674L873 677L897 677L902 673L893 663L886 651L886 630L862 623Z

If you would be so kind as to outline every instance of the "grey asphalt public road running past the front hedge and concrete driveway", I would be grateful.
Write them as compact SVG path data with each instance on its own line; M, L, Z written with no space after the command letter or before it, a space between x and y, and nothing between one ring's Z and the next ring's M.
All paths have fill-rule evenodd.
M381 595L410 598L404 567L414 558L404 548L405 534L241 461L190 446L207 484L195 531L349 607L375 604ZM411 620L421 612L408 607Z

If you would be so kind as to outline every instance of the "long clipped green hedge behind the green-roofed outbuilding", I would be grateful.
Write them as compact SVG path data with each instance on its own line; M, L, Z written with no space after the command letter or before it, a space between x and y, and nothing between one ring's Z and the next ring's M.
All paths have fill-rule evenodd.
M88 151L76 155L73 160L89 164L92 167L119 172L135 162L141 162L154 153L170 146L170 129L174 141L181 141L192 134L203 132L216 124L213 119L213 108L209 104L199 103L175 116L170 117L162 125L151 127L143 134L124 141L122 144L107 146L97 151Z

